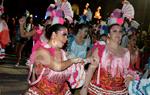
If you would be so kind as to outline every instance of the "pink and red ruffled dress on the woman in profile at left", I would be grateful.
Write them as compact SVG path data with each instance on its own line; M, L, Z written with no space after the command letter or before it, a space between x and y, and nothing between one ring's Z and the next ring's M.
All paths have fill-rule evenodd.
M78 88L83 85L85 72L81 64L73 64L61 72L56 72L42 65L36 65L34 64L34 52L38 48L46 49L51 56L54 56L55 52L54 48L40 41L38 41L33 47L33 52L30 57L30 72L28 77L30 88L26 92L27 95L71 95L67 82L69 82L72 88ZM62 57L63 60L67 60L63 50ZM30 80L33 69L35 73L39 73L35 81Z

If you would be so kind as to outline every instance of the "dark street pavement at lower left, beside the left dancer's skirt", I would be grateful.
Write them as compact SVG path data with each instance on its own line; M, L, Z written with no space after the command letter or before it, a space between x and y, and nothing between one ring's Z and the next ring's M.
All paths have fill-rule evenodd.
M15 67L15 59L15 55L0 59L0 95L21 95L28 88L25 59L19 67Z

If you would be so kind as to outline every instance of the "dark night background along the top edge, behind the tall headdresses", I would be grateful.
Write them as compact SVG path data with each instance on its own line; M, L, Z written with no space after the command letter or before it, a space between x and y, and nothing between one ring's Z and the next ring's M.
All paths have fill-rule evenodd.
M122 0L68 0L71 4L78 4L80 12L83 12L85 4L90 3L92 12L95 12L100 5L101 15L107 18L115 8L121 8ZM138 21L142 28L147 30L150 25L150 0L129 0L135 8L135 20ZM22 15L25 10L29 10L32 14L44 18L47 7L54 0L4 0L5 12L11 16Z

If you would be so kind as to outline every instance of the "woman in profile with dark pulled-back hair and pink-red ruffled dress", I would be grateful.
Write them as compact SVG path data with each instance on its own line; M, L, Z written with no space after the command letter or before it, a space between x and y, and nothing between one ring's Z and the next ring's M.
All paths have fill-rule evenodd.
M48 27L48 42L37 41L30 57L29 89L25 95L71 95L72 88L83 85L85 72L81 58L66 58L61 49L67 41L67 28L61 24ZM78 64L76 64L78 63Z

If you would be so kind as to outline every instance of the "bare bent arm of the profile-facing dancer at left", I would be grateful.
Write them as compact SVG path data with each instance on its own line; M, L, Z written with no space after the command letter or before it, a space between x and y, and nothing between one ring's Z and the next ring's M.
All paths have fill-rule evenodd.
M58 62L54 59L52 60L52 56L44 49L39 49L35 53L35 64L43 64L54 71L63 71L72 64L79 63L81 61L81 58L74 58L67 61Z

